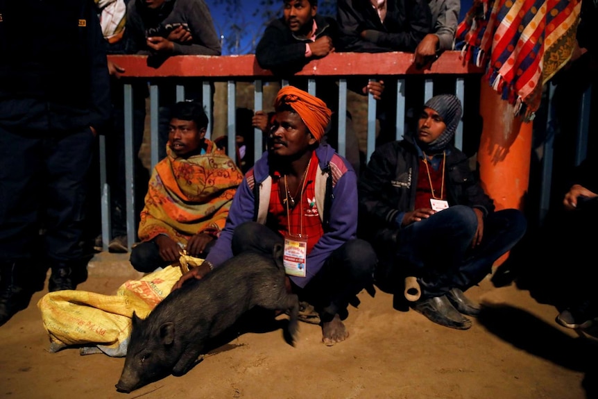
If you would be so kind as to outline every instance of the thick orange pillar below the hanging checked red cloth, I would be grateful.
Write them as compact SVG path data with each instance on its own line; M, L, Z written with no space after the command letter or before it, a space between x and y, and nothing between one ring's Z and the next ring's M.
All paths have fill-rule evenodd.
M501 99L486 80L481 83L479 113L483 120L477 153L481 186L497 210L523 210L529 188L533 124L522 122L513 105ZM507 257L508 253L495 266Z

